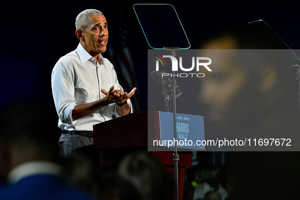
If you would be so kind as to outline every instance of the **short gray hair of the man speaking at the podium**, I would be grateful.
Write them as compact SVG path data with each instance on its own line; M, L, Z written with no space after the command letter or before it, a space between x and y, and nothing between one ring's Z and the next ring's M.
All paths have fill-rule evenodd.
M84 31L84 29L92 23L92 19L90 18L90 16L92 15L103 15L102 12L95 10L95 9L87 9L82 11L81 13L79 13L79 15L76 17L76 29L77 30L82 30Z

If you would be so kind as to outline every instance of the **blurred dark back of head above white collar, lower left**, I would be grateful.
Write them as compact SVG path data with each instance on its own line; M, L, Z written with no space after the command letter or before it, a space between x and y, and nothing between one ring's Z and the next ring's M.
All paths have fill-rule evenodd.
M10 102L1 112L0 171L4 179L18 164L56 161L58 157L55 113L32 99Z

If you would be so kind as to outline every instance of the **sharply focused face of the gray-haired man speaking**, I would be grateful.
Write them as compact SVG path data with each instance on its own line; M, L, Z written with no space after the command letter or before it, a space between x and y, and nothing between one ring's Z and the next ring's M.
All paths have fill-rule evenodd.
M92 23L82 33L84 38L83 47L91 56L96 56L106 51L108 26L104 15L92 15L90 18Z

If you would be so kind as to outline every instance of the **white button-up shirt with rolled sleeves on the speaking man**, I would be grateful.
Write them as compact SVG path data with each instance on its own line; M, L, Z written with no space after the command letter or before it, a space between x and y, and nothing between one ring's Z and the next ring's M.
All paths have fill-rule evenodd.
M79 43L77 49L61 57L55 64L51 81L52 94L58 114L58 127L65 130L93 130L93 125L116 117L116 104L105 106L94 113L72 120L72 110L79 104L97 101L105 94L101 89L109 91L112 85L115 89L123 88L119 85L113 64L101 54L102 62L96 63ZM130 99L127 100L132 113Z

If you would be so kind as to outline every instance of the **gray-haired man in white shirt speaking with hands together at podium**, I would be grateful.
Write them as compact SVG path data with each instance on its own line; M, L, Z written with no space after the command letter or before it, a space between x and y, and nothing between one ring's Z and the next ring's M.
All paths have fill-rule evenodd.
M80 44L57 61L51 76L58 127L63 130L58 144L65 156L93 149L94 124L132 113L129 98L136 90L124 92L114 66L101 55L108 43L108 24L100 11L81 12L75 34Z

